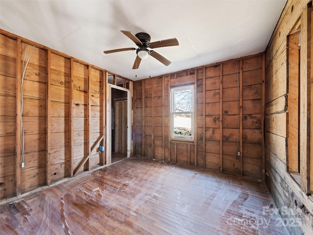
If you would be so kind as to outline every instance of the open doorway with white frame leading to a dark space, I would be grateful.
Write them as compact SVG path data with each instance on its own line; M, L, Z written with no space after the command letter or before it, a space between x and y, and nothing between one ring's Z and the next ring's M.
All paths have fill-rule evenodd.
M107 164L130 157L130 91L109 84Z

